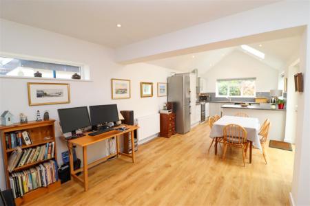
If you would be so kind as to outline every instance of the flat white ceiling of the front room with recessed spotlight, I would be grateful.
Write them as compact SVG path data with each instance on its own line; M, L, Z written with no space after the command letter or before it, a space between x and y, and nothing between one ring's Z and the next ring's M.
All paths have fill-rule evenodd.
M0 16L92 43L121 47L276 1L0 0ZM116 27L117 23L122 27Z

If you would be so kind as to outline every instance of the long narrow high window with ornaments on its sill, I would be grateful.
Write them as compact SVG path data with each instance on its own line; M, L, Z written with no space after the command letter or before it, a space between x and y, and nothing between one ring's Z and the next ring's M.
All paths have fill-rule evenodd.
M34 77L37 71L42 78L72 79L74 73L81 76L79 66L0 56L0 76Z

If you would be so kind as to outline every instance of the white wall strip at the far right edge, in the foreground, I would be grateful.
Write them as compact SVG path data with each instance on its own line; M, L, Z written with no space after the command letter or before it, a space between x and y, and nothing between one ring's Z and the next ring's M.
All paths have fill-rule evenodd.
M309 14L310 19L310 14ZM295 205L310 205L310 27L300 43L300 72L304 75L304 92L298 93L296 152L291 198Z

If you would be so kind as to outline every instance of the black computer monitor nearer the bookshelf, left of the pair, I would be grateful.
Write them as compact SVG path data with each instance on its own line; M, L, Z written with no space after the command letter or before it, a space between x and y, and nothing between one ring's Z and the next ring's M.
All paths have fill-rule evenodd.
M63 133L71 133L75 130L91 126L87 106L60 108L58 115Z

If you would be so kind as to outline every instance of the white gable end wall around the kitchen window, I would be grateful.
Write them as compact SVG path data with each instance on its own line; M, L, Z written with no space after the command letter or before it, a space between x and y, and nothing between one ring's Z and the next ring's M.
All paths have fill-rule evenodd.
M225 78L256 78L256 91L278 88L278 70L238 50L225 56L202 75L207 80L207 92L216 91L216 80Z

